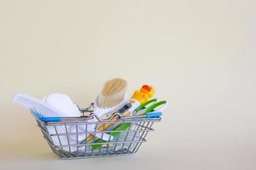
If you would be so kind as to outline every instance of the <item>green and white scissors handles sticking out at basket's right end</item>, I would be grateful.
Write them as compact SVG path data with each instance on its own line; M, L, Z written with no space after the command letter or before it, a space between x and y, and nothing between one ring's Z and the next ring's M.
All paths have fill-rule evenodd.
M146 103L137 107L137 109L133 112L133 116L141 116L146 115L148 113L159 114L161 113L161 111L166 109L167 105L168 102L166 100L161 100L157 102L157 99L149 99ZM159 108L156 109L157 107Z

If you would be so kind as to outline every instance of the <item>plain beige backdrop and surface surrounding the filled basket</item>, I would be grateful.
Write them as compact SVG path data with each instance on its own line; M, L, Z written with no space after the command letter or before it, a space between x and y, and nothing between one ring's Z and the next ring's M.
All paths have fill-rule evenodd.
M255 169L255 2L0 1L0 167ZM136 156L61 161L12 102L102 83L154 85L172 105Z

